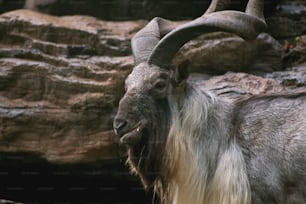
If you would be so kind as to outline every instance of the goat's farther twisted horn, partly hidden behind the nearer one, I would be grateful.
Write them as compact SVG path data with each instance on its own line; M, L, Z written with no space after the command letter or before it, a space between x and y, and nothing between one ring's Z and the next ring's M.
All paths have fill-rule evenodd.
M206 14L223 10L230 0L213 0ZM176 28L178 23L156 17L132 38L132 51L135 65L148 60L153 48L161 38Z

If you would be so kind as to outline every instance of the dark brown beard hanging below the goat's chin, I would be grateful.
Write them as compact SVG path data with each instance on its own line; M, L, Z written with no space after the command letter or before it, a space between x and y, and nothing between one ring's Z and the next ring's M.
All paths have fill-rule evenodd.
M151 111L149 121L141 131L138 144L128 147L128 164L148 191L161 176L165 144L170 129L170 108L167 99L157 101L158 108Z

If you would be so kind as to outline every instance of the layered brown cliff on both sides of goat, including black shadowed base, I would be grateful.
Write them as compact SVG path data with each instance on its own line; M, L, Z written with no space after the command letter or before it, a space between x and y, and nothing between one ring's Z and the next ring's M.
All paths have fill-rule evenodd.
M231 100L303 91L304 14L293 19L300 30L290 35L276 15L270 21L275 30L253 42L224 33L201 36L174 63L189 59L203 86ZM150 200L124 167L124 149L112 130L133 67L130 39L145 23L29 10L0 15L0 199Z

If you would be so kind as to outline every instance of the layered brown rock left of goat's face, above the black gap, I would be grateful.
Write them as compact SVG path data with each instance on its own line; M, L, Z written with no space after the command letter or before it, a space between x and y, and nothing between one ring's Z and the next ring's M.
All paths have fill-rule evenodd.
M112 116L132 67L130 37L141 25L3 14L0 151L56 163L118 160Z

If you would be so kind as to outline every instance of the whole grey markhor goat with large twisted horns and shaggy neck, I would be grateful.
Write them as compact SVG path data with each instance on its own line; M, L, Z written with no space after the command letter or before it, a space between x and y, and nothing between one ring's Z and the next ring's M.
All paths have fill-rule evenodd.
M165 204L306 203L306 93L234 104L202 90L182 64L169 64L190 39L225 31L254 39L263 2L246 12L205 14L175 28L154 18L132 39L135 67L114 119L128 161Z

